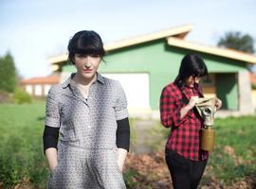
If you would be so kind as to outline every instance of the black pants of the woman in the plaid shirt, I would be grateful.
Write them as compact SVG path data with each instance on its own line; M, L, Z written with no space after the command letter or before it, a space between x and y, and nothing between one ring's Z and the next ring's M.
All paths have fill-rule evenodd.
M166 150L165 158L171 173L174 189L197 188L204 173L207 160L191 161L171 149Z

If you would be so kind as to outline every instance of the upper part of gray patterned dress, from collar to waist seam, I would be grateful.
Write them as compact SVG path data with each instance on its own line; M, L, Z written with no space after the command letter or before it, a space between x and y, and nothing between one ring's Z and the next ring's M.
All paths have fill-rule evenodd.
M98 74L88 98L72 85L71 75L47 96L46 125L60 128L61 142L82 148L116 148L117 120L128 117L118 81Z

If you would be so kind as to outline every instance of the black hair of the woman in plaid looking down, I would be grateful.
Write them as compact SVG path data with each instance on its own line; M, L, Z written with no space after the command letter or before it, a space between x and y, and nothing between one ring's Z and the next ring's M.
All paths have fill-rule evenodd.
M174 84L179 88L184 86L185 80L189 77L208 76L208 69L205 61L198 54L186 55L182 60L178 71L178 76Z

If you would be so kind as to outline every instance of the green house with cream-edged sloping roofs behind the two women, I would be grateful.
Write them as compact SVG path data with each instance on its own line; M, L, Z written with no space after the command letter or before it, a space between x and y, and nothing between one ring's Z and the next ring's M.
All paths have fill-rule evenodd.
M106 63L100 72L119 79L128 99L130 115L159 116L162 88L172 82L185 54L199 53L209 68L210 77L203 82L206 96L223 100L223 115L253 113L247 65L256 57L243 52L192 43L185 40L192 26L177 26L152 34L104 45ZM75 67L67 55L49 59L55 70L67 77Z

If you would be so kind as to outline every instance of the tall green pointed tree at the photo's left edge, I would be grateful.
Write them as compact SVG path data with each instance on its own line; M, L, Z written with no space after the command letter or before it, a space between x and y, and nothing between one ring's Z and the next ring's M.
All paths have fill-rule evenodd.
M14 60L8 52L0 57L0 91L13 93L17 85L17 76Z

